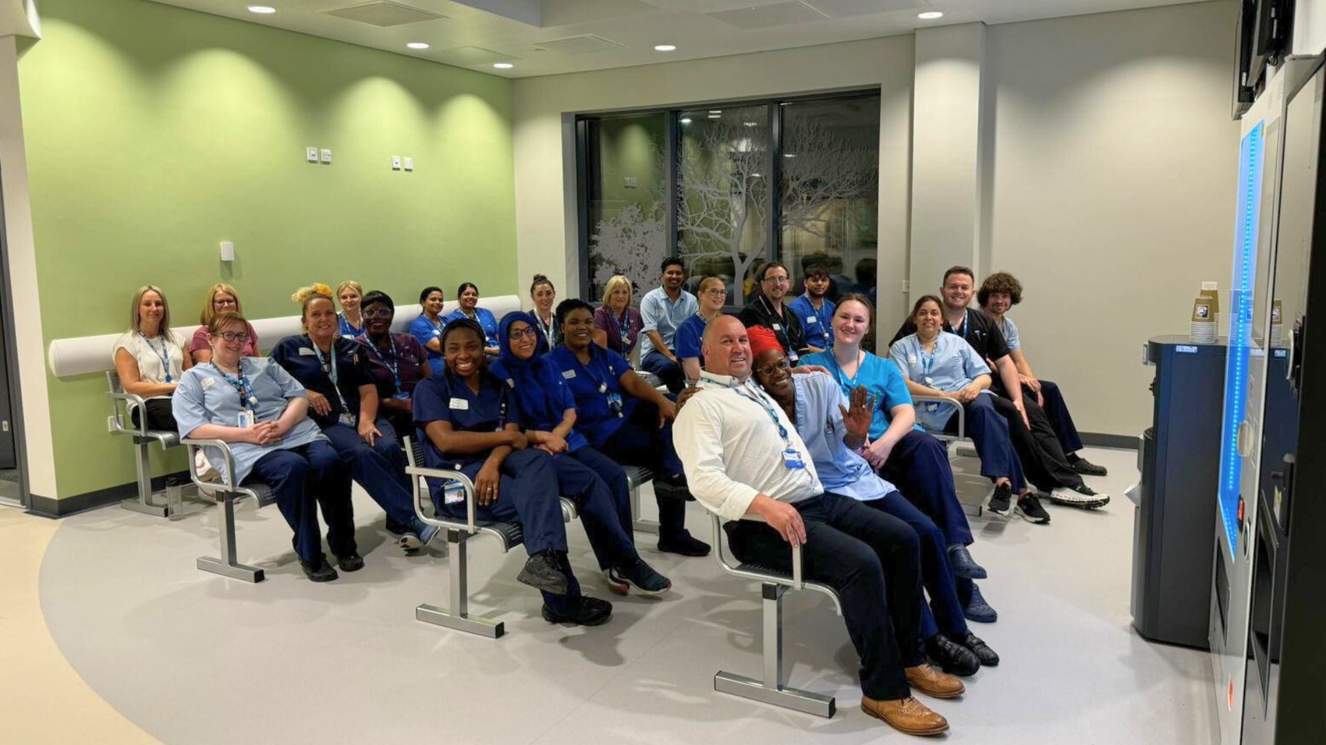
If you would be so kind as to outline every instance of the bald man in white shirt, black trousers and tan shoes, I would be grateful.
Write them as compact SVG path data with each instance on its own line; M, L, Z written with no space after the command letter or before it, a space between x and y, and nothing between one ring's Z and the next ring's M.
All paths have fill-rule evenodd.
M709 322L701 353L701 391L674 424L691 493L732 521L725 529L737 558L790 573L788 544L801 546L805 577L838 593L861 656L862 711L910 734L945 732L947 720L910 691L943 699L964 691L922 652L916 532L825 493L796 427L751 380L751 343L739 319ZM748 516L764 524L741 520Z

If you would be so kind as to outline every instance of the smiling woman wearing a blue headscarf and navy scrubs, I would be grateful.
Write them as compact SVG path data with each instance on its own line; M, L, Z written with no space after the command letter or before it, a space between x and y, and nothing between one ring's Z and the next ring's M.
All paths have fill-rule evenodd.
M548 341L538 321L528 313L508 313L499 341L489 371L516 396L529 445L553 456L560 490L583 496L577 508L609 590L618 595L630 587L646 594L666 591L672 582L635 550L626 472L575 431L575 400L557 366L544 359Z

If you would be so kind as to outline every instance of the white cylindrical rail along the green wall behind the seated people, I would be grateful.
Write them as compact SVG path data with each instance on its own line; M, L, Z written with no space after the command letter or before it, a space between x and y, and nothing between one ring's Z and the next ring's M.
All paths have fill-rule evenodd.
M521 310L520 304L520 296L514 294L484 297L479 301L480 308L492 310L493 315L499 319L508 313ZM457 308L460 306L456 301L448 301L442 306L442 313L446 315L455 312ZM420 309L418 302L396 301L396 315L391 322L391 330L408 330L410 322L418 318L419 313ZM284 337L304 331L304 326L300 323L298 315L256 318L252 319L251 323L253 323L253 330L257 331L259 338L263 339L263 343L268 349ZM183 334L186 339L190 339L194 337L194 331L198 330L198 325L176 326L175 330ZM110 354L110 347L122 333L123 331L99 334L95 337L56 339L50 342L50 347L46 350L46 365L50 367L50 372L57 378L111 370L114 369L114 359Z

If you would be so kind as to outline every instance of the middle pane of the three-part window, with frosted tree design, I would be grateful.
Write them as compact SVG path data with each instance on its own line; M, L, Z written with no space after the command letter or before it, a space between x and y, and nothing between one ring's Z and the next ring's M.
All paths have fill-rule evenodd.
M717 274L728 304L740 308L756 288L752 269L769 256L769 106L682 111L678 133L676 240L687 288Z

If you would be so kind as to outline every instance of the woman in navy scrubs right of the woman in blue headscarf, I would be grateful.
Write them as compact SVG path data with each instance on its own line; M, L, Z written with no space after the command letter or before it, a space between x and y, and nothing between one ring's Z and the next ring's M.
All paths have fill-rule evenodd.
M709 545L686 529L690 492L672 448L676 404L658 392L615 351L593 343L594 312L582 300L557 306L562 346L550 359L575 398L575 423L591 445L627 465L654 472L659 505L659 550L703 557Z

